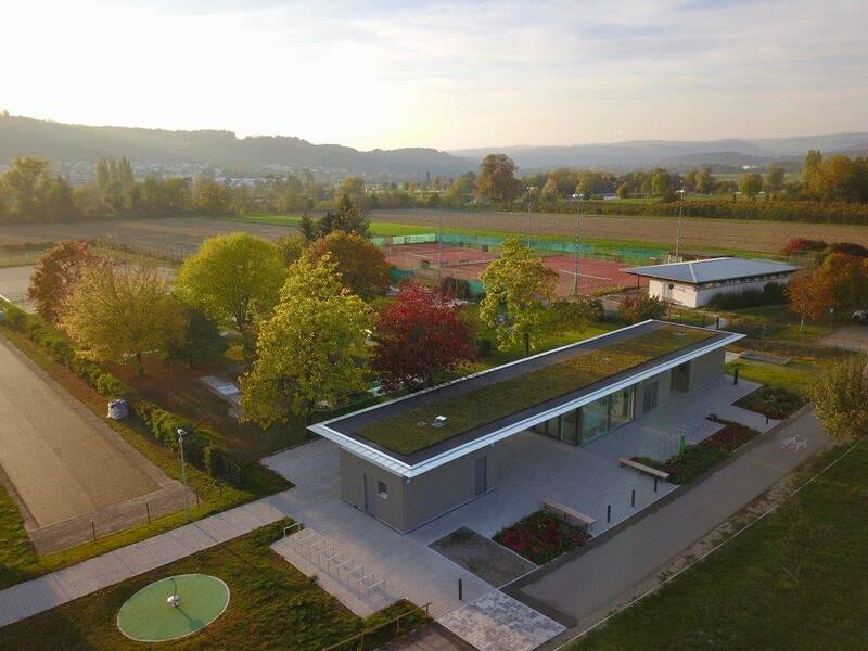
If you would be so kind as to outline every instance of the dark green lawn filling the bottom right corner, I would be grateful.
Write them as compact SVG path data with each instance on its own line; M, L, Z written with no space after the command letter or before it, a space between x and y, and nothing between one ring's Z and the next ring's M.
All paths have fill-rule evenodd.
M814 470L841 448L821 455ZM571 651L863 651L868 445Z

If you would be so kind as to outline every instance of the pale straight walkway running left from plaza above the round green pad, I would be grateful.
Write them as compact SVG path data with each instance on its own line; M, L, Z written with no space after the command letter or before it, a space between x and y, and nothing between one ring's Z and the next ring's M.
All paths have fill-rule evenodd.
M226 542L284 518L272 498L224 511L199 522L122 547L0 590L0 626L12 624L127 578Z

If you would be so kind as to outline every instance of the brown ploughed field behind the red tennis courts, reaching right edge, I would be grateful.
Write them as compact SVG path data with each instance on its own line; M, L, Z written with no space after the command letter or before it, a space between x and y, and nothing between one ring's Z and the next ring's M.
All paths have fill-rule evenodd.
M373 210L375 221L430 226L439 222L437 210ZM551 213L532 215L536 235L575 237L575 216ZM527 214L505 212L443 210L444 228L502 232L527 232ZM582 215L582 238L620 240L675 246L677 218ZM692 248L733 248L757 253L777 253L792 238L856 242L868 246L868 227L841 224L802 224L795 221L750 221L742 219L681 220L681 242Z

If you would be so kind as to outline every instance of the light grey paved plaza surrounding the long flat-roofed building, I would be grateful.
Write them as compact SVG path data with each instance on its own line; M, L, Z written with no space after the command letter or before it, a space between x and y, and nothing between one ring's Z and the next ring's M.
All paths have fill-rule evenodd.
M265 464L295 483L295 488L280 496L281 508L330 539L333 553L356 559L366 572L385 578L391 598L407 597L414 603L432 602L432 614L439 617L464 605L457 598L457 583L464 582L464 598L473 601L492 587L447 560L429 545L452 531L467 526L492 537L521 518L538 510L541 500L553 499L597 519L592 533L599 535L637 511L675 490L661 482L654 493L653 480L621 468L618 457L649 455L665 458L678 450L681 432L687 443L694 443L720 425L704 419L710 412L764 430L765 418L732 407L729 403L756 388L756 384L719 382L697 390L689 400L677 400L585 447L552 441L523 432L498 444L498 487L407 535L367 515L340 499L339 448L320 439L280 452ZM768 426L771 426L771 421ZM635 507L630 506L636 489ZM607 507L612 520L607 522ZM380 604L379 596L359 603L358 591L329 574L330 564L315 553L279 549L290 562L307 574L323 578L323 587L350 609L365 612Z

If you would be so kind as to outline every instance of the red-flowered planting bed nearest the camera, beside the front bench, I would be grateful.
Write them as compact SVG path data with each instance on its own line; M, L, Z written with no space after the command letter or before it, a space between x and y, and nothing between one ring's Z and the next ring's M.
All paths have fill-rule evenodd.
M566 551L582 547L590 536L583 528L540 509L500 529L494 539L519 556L545 565Z

